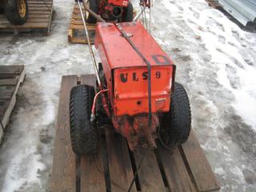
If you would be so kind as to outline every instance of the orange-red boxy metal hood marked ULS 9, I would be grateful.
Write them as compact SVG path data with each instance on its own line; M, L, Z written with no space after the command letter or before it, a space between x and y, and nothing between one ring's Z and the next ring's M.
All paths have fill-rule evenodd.
M134 45L150 62L152 113L170 110L175 66L140 22L124 22ZM95 46L102 60L110 103L115 116L149 113L146 62L138 55L114 23L98 23Z

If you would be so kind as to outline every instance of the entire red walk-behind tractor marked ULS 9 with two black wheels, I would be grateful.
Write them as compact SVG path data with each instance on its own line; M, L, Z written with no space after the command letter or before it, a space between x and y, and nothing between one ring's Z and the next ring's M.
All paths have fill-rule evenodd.
M98 126L106 123L126 137L130 150L155 148L155 139L168 148L186 142L191 124L186 90L175 82L176 66L141 22L98 22L95 46L98 64L89 41L96 86L70 92L74 152L94 154Z

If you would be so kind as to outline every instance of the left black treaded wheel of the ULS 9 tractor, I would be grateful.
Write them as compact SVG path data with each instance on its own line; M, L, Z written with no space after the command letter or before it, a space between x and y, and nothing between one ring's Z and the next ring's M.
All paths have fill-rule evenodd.
M70 138L76 154L94 154L97 151L98 134L90 122L94 100L94 87L75 86L70 92Z

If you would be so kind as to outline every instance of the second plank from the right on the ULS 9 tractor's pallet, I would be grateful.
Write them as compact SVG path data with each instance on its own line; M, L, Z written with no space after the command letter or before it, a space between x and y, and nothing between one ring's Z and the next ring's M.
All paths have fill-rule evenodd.
M162 168L165 172L170 191L197 191L193 182L190 180L190 175L186 170L186 166L177 147L170 151L159 143L158 154L160 161L162 162Z

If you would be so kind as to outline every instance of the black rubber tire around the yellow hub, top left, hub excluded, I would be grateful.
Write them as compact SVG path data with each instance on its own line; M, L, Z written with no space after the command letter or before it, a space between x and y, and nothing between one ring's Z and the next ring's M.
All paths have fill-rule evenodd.
M5 3L6 18L11 24L16 26L23 25L26 22L28 15L27 1L24 0L26 4L26 14L23 17L19 14L18 11L18 1L19 0L6 0Z

